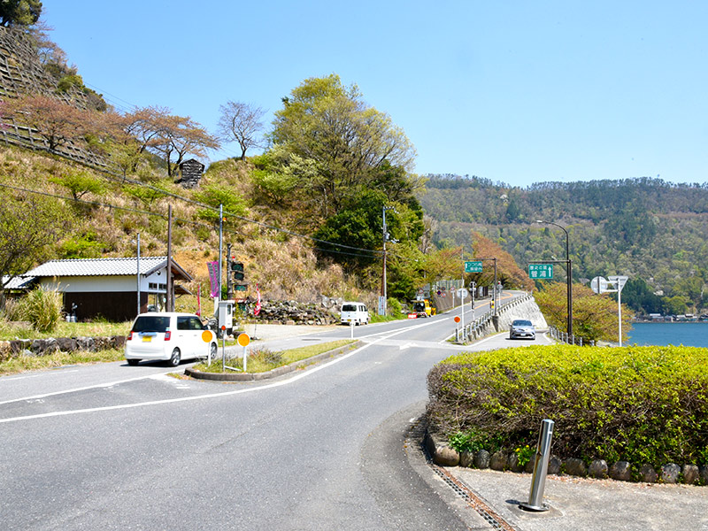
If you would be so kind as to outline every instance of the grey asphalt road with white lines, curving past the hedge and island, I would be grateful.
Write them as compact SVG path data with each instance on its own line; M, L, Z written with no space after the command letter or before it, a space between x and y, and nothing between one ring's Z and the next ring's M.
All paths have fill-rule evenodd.
M461 350L454 315L357 327L362 348L266 383L122 362L0 378L2 527L489 528L406 441L427 372Z

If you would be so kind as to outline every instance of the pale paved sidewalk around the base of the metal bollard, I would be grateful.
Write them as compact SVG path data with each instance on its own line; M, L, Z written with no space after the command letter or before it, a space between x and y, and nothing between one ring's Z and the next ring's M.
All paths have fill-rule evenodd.
M519 531L708 531L708 487L549 475L550 510L526 512L519 502L528 501L530 473L444 470Z

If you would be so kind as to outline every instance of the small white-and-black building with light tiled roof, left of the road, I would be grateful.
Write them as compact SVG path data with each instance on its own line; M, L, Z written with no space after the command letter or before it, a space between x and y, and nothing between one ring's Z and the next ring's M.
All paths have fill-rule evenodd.
M191 275L172 260L173 296L189 294L176 281ZM167 258L140 258L140 311L165 309ZM64 293L64 311L77 320L103 317L112 321L134 319L137 313L137 258L77 258L51 260L22 275L24 289L42 286Z

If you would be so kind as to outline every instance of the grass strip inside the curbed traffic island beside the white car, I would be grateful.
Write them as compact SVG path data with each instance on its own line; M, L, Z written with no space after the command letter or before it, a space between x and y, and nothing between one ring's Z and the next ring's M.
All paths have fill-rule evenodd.
M246 361L246 369L248 373L266 373L280 366L286 366L296 361L302 361L303 359L312 358L329 350L335 350L345 345L348 345L356 340L341 340L326 343L319 343L317 345L309 345L307 347L300 347L298 349L282 350L280 352L275 352L267 349L251 349L249 351L249 357ZM227 366L232 366L241 369L243 359L241 357L227 359ZM195 367L196 371L201 371L203 373L221 373L221 357L218 355L215 360L212 361L211 366L207 366L205 363L200 363Z

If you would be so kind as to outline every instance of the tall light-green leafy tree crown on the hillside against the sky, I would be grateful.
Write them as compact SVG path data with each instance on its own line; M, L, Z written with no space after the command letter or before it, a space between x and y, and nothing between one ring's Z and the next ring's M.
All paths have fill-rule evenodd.
M338 213L362 189L386 189L389 180L381 180L380 168L398 167L404 174L412 168L415 150L403 130L366 105L356 86L343 87L336 74L303 81L283 105L270 139L315 170L299 191L321 218Z

